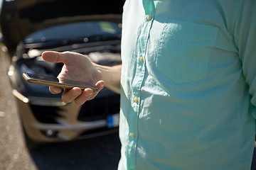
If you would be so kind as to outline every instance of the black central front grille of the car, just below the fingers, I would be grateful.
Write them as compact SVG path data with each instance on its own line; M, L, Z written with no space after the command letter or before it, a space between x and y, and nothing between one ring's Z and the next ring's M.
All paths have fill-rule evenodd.
M92 101L86 101L80 110L78 120L80 121L95 121L106 119L107 115L119 113L120 96L113 94L94 98Z

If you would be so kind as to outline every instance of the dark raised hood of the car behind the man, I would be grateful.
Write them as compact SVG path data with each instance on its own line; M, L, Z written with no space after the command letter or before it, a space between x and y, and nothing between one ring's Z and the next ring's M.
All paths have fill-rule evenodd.
M4 0L1 32L10 54L27 35L50 26L74 21L121 23L125 0Z

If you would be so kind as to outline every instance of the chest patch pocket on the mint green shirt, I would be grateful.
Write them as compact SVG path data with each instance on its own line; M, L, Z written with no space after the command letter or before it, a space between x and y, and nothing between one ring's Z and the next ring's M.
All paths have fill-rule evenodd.
M157 47L156 68L176 83L203 79L218 28L167 19Z

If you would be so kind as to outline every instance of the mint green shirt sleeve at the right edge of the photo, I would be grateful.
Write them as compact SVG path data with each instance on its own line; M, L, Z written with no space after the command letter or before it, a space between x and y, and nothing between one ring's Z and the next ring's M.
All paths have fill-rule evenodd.
M242 1L240 9L234 38L242 62L242 72L252 96L252 115L256 118L256 1Z

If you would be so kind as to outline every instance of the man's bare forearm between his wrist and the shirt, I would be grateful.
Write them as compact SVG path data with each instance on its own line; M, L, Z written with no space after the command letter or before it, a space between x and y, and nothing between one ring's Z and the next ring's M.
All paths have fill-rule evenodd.
M102 73L102 80L105 81L105 86L117 94L120 94L120 81L121 81L121 70L122 65L113 67L102 66L94 64L95 67Z

